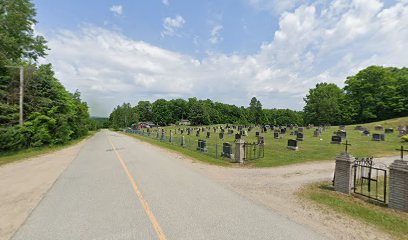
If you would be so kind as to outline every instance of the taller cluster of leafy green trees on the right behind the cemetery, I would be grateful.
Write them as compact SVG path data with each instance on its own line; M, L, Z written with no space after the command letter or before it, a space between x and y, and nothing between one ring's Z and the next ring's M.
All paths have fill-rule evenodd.
M319 83L304 98L306 123L353 124L408 116L408 68L370 66L343 89Z

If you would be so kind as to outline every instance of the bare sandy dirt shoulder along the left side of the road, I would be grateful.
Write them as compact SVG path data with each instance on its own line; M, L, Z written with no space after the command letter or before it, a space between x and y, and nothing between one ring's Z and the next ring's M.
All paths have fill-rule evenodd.
M0 240L13 236L87 141L0 167Z

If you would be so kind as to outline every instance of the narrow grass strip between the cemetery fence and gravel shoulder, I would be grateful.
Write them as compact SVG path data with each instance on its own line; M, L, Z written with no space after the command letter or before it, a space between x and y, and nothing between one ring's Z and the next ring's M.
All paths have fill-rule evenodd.
M169 143L166 143L166 142L160 142L160 141L157 141L157 140L154 140L154 139L151 139L151 138L142 137L142 136L137 135L137 134L129 134L129 133L123 133L123 134L125 134L125 135L127 135L129 137L139 139L139 140L141 140L143 142L147 142L147 143L159 146L159 147L163 147L163 148L175 151L177 153L181 153L181 154L183 154L185 156L188 156L190 158L194 158L196 160L199 160L199 161L202 161L202 162L205 162L205 163L209 163L209 164L212 164L212 165L218 165L218 166L231 166L232 165L232 163L230 163L230 162L228 162L226 160L216 159L216 158L214 158L212 156L209 156L209 155L197 152L197 151L193 151L193 150L190 150L190 149L187 149L187 148L183 148L181 146L172 145L172 144L169 144Z

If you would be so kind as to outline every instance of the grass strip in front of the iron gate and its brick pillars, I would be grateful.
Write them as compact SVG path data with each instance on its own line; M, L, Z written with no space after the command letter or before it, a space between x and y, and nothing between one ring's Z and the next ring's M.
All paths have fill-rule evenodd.
M330 182L309 185L300 191L300 195L321 206L387 232L397 239L408 239L407 213L389 209L381 204L373 204L365 199L335 192Z

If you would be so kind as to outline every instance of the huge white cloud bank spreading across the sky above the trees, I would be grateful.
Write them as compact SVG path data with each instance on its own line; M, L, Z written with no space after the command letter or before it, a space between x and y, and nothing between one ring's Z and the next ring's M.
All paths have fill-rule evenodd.
M174 35L183 24L176 17L166 26ZM335 0L320 10L309 4L283 13L274 38L251 55L197 60L88 26L48 37L47 59L64 85L83 92L94 115L124 101L193 96L238 105L257 96L265 107L301 109L317 82L342 86L369 65L408 66L406 39L408 2Z

